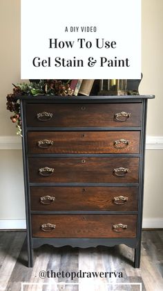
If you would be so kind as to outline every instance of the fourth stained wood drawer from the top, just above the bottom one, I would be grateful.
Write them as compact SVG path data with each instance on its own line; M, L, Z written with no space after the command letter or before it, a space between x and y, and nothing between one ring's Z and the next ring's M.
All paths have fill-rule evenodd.
M135 187L31 187L35 211L137 211Z

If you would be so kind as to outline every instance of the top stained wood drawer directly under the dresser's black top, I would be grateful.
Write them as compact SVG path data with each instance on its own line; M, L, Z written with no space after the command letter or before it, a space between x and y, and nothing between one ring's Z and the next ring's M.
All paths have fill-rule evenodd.
M141 126L142 103L27 103L27 126Z

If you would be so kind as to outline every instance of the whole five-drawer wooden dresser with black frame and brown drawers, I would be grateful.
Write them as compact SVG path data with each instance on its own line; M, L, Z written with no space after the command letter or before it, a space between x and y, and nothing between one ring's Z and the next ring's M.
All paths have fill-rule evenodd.
M149 98L21 97L29 267L41 244L126 244L140 267Z

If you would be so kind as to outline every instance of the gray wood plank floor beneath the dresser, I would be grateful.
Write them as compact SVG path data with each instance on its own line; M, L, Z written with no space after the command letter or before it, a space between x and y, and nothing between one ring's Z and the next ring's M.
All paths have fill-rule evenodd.
M26 233L0 232L0 290L25 291L143 291L163 290L163 231L142 232L141 268L134 269L133 249L124 245L78 249L44 245L35 249L35 265L26 267ZM39 278L41 270L53 272L122 272L122 278ZM67 273L69 274L69 273ZM68 276L68 275L67 275ZM23 285L21 283L32 283ZM44 283L44 284L43 284ZM68 283L69 285L65 285ZM72 284L73 283L73 284ZM79 283L79 285L78 285ZM109 284L108 284L109 283ZM50 285L51 284L51 285ZM76 285L75 285L76 284Z

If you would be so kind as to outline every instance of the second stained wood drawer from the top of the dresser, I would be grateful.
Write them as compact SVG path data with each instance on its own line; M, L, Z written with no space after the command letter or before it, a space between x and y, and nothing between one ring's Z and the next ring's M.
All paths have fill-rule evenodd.
M28 132L28 153L139 153L140 131Z

